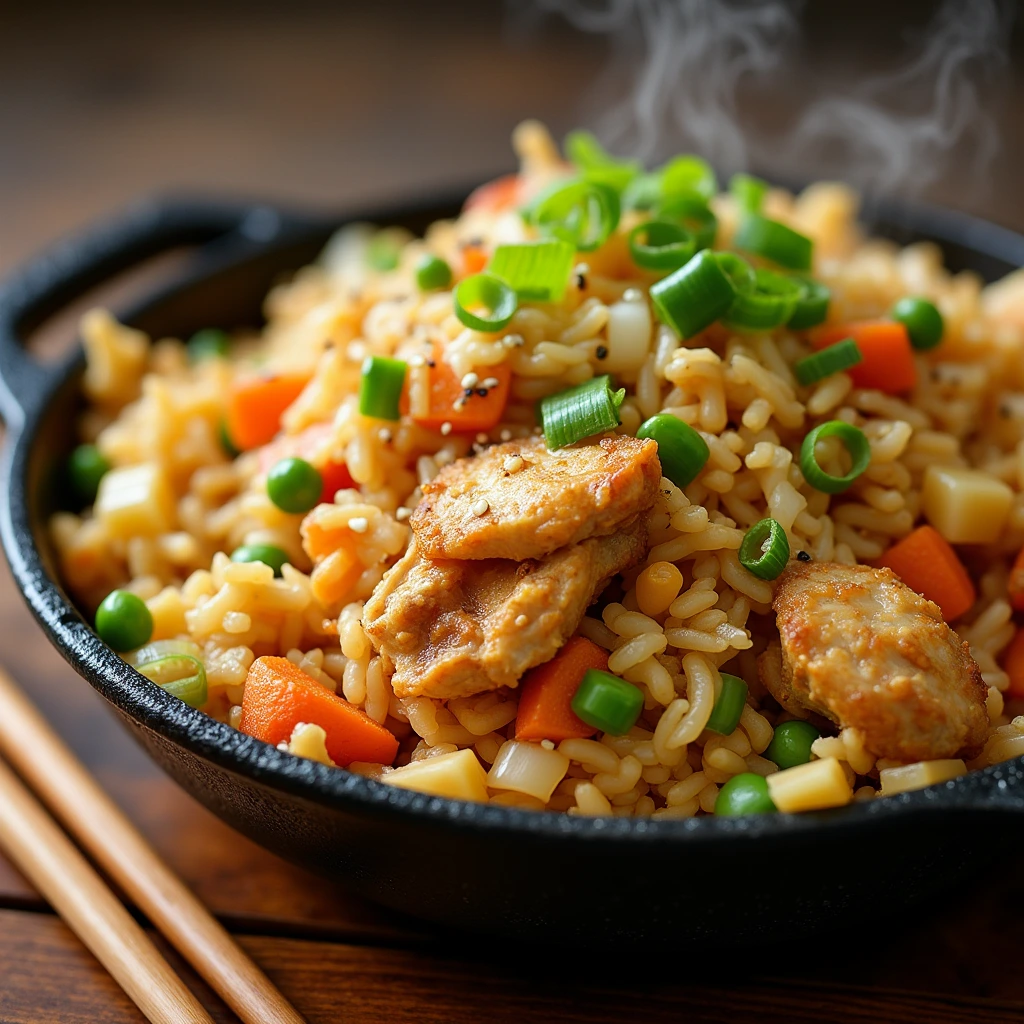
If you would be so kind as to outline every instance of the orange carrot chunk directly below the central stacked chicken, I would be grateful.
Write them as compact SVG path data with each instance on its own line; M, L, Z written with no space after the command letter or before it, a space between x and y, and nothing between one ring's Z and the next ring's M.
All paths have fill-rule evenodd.
M608 652L586 637L572 637L550 660L530 669L519 687L516 739L593 736L597 729L577 718L572 697L588 669L606 672Z

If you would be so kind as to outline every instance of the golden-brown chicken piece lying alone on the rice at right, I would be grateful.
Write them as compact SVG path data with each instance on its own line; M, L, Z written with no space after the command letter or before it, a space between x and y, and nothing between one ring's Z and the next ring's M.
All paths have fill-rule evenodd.
M868 750L895 761L981 749L988 690L970 648L891 569L796 564L772 607L781 656L769 647L759 668L783 708L854 726Z

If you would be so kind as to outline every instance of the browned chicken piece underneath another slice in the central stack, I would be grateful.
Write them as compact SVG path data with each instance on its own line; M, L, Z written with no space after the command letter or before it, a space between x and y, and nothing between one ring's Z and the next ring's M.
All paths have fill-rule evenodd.
M608 579L636 564L646 546L641 521L540 561L424 558L414 541L367 602L364 627L394 666L398 696L515 686L554 656Z

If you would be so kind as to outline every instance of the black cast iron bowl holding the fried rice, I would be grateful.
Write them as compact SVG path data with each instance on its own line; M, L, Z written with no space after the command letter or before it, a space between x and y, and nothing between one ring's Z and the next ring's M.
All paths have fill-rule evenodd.
M458 197L360 212L422 230ZM445 925L534 940L641 937L679 945L778 939L936 893L990 859L1024 810L1024 758L843 810L650 821L536 814L431 798L283 754L194 711L104 646L62 590L46 521L73 444L80 350L45 367L34 327L113 274L195 248L177 284L125 313L154 337L259 323L283 272L352 218L268 206L154 202L29 264L0 290L0 413L7 425L0 535L17 586L53 645L193 796L282 856L365 896ZM901 243L934 239L954 269L994 279L1024 238L943 211L876 210Z

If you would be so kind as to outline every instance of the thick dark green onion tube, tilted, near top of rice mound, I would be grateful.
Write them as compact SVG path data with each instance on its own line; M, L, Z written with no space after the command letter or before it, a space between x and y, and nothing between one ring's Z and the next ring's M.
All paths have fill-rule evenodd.
M746 264L738 256L720 259L728 256L732 254L716 254L703 249L675 273L651 285L650 300L658 319L668 324L680 338L699 334L732 305L738 265Z

